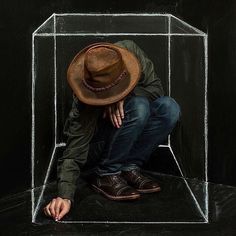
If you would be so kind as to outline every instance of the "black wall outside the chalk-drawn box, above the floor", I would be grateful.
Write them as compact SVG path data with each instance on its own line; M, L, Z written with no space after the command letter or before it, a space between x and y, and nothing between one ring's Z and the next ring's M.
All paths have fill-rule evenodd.
M236 185L236 1L1 0L0 197L31 183L31 35L52 13L172 13L209 34L209 180Z

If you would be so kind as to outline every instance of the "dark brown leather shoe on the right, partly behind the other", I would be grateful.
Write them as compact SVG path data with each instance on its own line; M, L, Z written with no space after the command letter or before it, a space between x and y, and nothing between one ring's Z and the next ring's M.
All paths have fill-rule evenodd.
M140 193L154 193L161 190L159 184L150 177L144 176L139 169L123 171L121 176Z

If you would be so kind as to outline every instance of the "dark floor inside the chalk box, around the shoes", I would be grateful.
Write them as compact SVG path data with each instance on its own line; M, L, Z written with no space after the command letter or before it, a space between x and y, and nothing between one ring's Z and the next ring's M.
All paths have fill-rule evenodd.
M133 202L115 202L107 200L93 191L85 182L79 184L79 194L73 211L64 221L99 222L204 222L194 199L182 178L151 173L158 179L162 191L143 194ZM149 174L150 175L150 174ZM201 188L199 184L198 188ZM55 184L50 185L40 201L40 208L46 205L56 192ZM38 194L37 194L38 195ZM199 196L204 201L204 196ZM36 222L49 223L39 210Z

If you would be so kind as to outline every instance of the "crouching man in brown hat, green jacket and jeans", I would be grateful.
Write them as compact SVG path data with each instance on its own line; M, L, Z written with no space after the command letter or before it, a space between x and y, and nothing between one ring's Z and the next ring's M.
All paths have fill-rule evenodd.
M68 140L58 159L58 197L45 214L60 220L69 212L81 168L92 172L88 182L111 200L160 191L141 167L174 128L180 108L163 96L151 60L130 40L97 43L75 56L67 78L74 92Z

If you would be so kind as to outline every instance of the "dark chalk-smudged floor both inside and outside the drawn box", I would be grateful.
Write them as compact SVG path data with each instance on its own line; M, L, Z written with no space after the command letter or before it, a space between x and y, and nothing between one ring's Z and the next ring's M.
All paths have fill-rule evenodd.
M79 200L73 211L64 219L64 223L56 223L44 217L39 208L37 223L32 224L31 191L1 199L0 235L236 236L236 188L209 184L210 223L202 223L204 218L183 179L163 175L157 178L162 184L162 192L143 195L140 200L132 203L106 200L82 182L83 194L78 195ZM54 186L52 184L46 189L41 201L42 206L51 197ZM201 185L194 185L192 182L191 189L194 186L199 193ZM197 200L201 197L199 194ZM199 204L201 205L200 201ZM121 221L130 223L114 223ZM188 223L165 223L167 221ZM198 223L190 223L191 221Z

